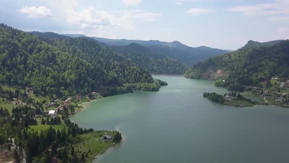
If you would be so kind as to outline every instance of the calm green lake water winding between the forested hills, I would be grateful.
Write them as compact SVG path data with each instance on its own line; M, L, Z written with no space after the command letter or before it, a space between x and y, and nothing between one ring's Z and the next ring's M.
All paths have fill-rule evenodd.
M72 120L114 130L123 141L95 163L289 163L289 110L212 103L211 81L155 77L158 92L135 92L85 104Z

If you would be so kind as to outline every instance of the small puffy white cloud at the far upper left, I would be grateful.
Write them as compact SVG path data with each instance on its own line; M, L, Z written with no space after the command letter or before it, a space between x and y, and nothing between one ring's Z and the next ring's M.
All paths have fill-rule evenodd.
M46 16L52 16L51 10L44 7L44 6L39 6L39 7L23 7L19 10L20 13L27 14L29 18L43 18Z

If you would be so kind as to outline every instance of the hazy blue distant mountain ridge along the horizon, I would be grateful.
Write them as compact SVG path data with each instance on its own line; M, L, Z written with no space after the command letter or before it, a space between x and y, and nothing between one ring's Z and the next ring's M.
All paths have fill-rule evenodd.
M68 34L65 34L68 35ZM69 36L77 37L78 35L69 34ZM205 60L211 56L228 53L226 50L214 49L209 47L189 47L178 41L163 42L159 40L126 40L126 39L107 39L99 37L91 37L98 42L108 44L110 46L125 46L136 43L149 48L155 53L164 54L172 60L193 65L199 61Z

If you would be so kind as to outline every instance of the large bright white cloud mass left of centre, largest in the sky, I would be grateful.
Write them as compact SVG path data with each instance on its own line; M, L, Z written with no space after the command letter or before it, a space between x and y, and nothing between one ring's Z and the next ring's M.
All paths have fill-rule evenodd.
M83 34L90 36L115 38L113 34L115 30L136 30L136 21L155 21L161 16L158 13L147 12L145 10L126 10L113 13L98 10L94 7L78 10L77 0L74 1L73 5L69 6L65 5L66 0L61 1L63 3L60 5L63 8L67 23L73 24L73 27L82 30Z

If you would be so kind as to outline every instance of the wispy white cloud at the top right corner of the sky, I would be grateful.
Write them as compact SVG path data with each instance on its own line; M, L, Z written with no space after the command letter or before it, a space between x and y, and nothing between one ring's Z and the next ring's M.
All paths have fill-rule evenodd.
M241 12L245 16L268 16L271 21L284 21L289 17L289 1L274 0L270 3L255 5L241 5L228 9L233 12Z

